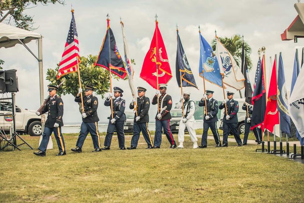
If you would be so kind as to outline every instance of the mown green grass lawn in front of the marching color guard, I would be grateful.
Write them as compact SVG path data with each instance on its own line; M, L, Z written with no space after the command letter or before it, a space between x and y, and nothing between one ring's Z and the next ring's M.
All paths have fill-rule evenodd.
M130 134L129 134L130 135ZM152 134L153 135L153 134ZM67 156L33 155L39 137L23 136L35 150L0 152L0 202L303 202L304 165L255 152L259 145L192 149L149 149L141 136L136 150L93 153L87 138L82 153L70 151L78 134L65 134ZM154 136L152 136L154 138ZM177 135L174 136L177 141ZM101 138L103 144L104 138ZM200 143L201 140L198 140ZM126 137L126 147L131 137ZM260 146L259 146L260 147ZM285 150L285 148L284 148Z

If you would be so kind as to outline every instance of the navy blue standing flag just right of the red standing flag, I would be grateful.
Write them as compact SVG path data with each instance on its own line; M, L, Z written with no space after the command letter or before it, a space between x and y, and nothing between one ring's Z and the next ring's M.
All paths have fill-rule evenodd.
M285 75L283 68L282 55L280 53L278 65L278 111L280 112L280 128L281 131L290 137L290 116L288 112L288 97L285 84Z

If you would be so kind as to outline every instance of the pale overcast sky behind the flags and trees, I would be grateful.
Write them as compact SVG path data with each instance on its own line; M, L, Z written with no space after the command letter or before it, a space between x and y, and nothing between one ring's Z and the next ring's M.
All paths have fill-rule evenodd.
M134 82L135 86L147 88L146 96L152 100L155 90L139 78L142 62L147 53L155 30L155 13L158 16L159 30L164 40L173 78L168 83L167 93L172 96L173 103L179 101L180 88L175 78L176 58L176 23L179 25L179 35L187 55L190 67L194 73L197 86L200 90L186 87L185 91L191 92L192 100L200 100L203 91L203 79L198 75L200 54L200 41L198 26L201 26L203 37L210 43L217 31L219 37L231 37L234 34L244 35L244 40L250 44L253 53L253 70L250 80L253 82L258 61L257 50L266 47L267 74L270 67L270 57L282 52L285 68L287 89L290 89L295 49L303 47L303 39L298 43L281 41L281 33L292 23L298 15L294 4L297 0L218 0L218 1L138 1L138 0L67 0L66 5L59 4L28 9L26 12L34 16L38 27L36 33L43 38L43 67L44 76L48 68L55 68L61 60L65 41L71 21L71 3L75 10L75 21L78 31L80 55L97 55L107 30L107 13L110 15L110 27L114 32L117 47L123 54L123 40L121 33L120 17L124 23L125 34L128 40L131 58L136 65ZM303 2L304 3L304 2ZM27 44L38 55L37 42ZM5 61L4 69L17 69L19 79L19 92L16 94L16 103L27 109L37 110L40 107L39 97L39 71L37 60L20 44L12 48L1 48L0 58ZM268 78L268 76L267 76ZM131 102L131 91L126 81L113 81L113 86L124 90L123 98L127 107ZM48 81L44 81L44 96L48 95ZM206 82L206 89L214 90L214 97L223 100L222 89ZM236 92L235 89L227 88ZM244 90L243 90L244 91ZM4 95L5 96L5 95ZM110 108L103 106L104 100L99 99L98 115L100 121L107 121ZM239 97L239 94L236 94ZM64 122L81 122L78 104L70 95L62 96L65 103ZM127 108L126 108L127 110ZM156 107L150 109L150 120L156 114Z

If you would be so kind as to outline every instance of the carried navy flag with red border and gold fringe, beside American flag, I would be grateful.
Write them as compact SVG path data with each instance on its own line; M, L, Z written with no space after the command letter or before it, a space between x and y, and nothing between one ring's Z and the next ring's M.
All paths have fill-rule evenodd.
M106 36L103 39L103 43L94 66L100 66L109 71L111 68L111 73L117 75L121 79L124 79L127 75L126 69L124 68L124 62L122 61L121 55L118 51L109 21Z

